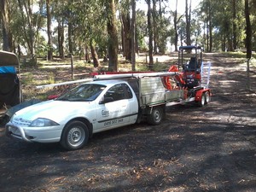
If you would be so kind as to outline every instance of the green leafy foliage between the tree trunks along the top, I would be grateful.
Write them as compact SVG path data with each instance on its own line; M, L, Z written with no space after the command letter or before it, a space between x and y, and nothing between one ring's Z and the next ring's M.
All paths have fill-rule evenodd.
M146 4L146 1L141 1ZM155 35L157 46L160 53L166 52L167 41L174 40L173 15L170 8L174 3L169 1L155 1L156 12ZM192 1L193 2L193 1ZM39 32L46 33L46 6L45 0L9 0L9 20L15 48L18 45L22 51L27 54L38 56L47 55L49 49L47 40ZM65 50L69 53L67 42L67 25L71 23L71 37L73 52L82 55L84 47L93 40L96 45L98 55L103 57L108 55L108 32L106 0L51 0L50 6L53 10L52 23L55 26L53 32L53 49L55 55L58 54L58 28L60 23L65 28ZM137 1L138 3L138 1ZM161 9L160 9L161 3ZM236 7L234 8L234 3ZM130 9L131 0L122 0L117 3L119 11ZM251 1L251 23L253 30L253 49L256 49L256 3ZM31 11L31 12L30 12ZM234 15L236 13L236 15ZM143 50L148 50L148 44L145 39L148 38L147 13L137 7L137 44ZM204 47L209 44L209 26L212 25L212 46L213 50L221 51L225 49L241 49L245 47L245 19L244 19L244 1L243 0L201 0L199 9L192 12L191 37L192 44L202 44ZM209 15L211 14L211 15ZM180 15L178 15L179 17ZM0 22L1 23L1 22ZM185 43L185 20L178 22L179 42ZM119 45L121 44L122 23L118 20ZM235 39L236 36L236 39ZM0 33L1 38L1 33ZM236 42L235 42L236 41ZM236 46L234 45L236 44ZM32 53L34 51L34 53Z

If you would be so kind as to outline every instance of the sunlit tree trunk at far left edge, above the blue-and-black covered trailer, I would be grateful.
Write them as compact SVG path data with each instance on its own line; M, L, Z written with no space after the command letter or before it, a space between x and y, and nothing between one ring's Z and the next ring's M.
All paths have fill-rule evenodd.
M12 46L12 34L9 30L9 1L1 0L0 1L0 13L2 19L2 28L3 28L3 50L13 51Z

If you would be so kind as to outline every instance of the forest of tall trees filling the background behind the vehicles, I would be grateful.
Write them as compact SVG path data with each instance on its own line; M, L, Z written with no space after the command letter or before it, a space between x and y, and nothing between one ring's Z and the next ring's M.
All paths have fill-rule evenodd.
M177 51L198 44L206 52L256 49L255 0L1 0L0 44L3 50L38 57L79 55L94 67L108 62L118 71L119 53L136 68L136 54ZM184 4L184 13L177 8ZM142 7L147 8L145 11ZM140 7L138 7L140 6ZM44 35L47 34L47 35Z

